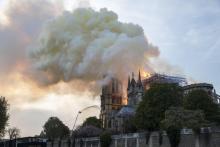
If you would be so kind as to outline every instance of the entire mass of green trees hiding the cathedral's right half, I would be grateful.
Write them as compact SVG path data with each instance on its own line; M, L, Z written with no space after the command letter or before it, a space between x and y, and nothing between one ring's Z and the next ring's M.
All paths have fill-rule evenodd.
M178 146L182 128L199 133L210 122L220 123L220 109L206 91L193 90L183 97L180 86L168 83L151 85L135 114L139 129L165 129L172 147Z

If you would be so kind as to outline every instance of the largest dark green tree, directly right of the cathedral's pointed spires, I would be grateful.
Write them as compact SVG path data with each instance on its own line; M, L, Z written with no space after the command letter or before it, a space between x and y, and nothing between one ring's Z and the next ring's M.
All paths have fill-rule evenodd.
M165 111L171 106L181 106L182 98L182 88L177 84L152 84L137 108L137 127L148 131L159 130Z

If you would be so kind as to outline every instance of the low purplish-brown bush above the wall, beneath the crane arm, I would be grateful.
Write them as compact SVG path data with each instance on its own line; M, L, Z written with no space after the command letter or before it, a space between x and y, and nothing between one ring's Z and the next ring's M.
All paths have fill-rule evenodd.
M102 129L97 128L92 125L88 126L80 126L73 132L73 136L75 137L94 137L100 136L102 133Z

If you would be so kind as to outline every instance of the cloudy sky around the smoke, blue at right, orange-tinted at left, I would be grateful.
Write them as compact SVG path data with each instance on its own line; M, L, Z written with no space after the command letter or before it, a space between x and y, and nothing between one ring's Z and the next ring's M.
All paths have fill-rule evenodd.
M72 90L77 83L41 87L30 80L27 70L27 50L44 23L79 6L107 8L121 22L141 26L160 51L152 59L156 72L212 83L220 93L218 0L0 0L0 95L10 103L9 127L20 128L22 136L39 134L50 116L72 128L79 110L100 104L98 96ZM98 116L99 110L91 112L82 114L77 124L93 113Z

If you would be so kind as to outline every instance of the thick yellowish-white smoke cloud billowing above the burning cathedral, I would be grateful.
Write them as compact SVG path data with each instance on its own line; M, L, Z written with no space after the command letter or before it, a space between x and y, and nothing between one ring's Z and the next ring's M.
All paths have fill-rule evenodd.
M36 75L44 84L81 81L87 86L103 75L127 79L159 51L148 43L143 29L118 21L112 11L78 8L48 21L30 49ZM43 78L42 78L43 77ZM43 80L42 80L43 79Z

